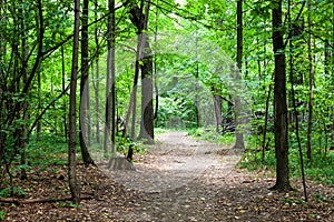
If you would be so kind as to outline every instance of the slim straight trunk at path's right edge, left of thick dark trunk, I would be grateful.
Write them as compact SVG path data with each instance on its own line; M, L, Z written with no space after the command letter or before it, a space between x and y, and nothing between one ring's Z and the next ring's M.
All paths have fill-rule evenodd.
M243 68L243 0L237 1L237 70L235 72L236 90L238 82L242 80ZM234 95L234 111L235 111L235 149L244 149L244 134L242 132L242 101L238 92Z

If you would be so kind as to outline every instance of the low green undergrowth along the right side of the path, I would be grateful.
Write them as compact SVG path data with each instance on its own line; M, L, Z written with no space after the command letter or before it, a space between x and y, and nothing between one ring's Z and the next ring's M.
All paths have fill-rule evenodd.
M233 133L216 133L214 129L190 129L187 130L189 135L193 135L197 140L206 140L218 144L232 145L235 142ZM274 148L274 134L267 134L268 143L266 144L265 158L262 157L262 148L259 137L250 135L245 139L246 150L242 157L242 161L238 164L240 169L247 169L249 171L267 170L271 174L275 175L276 158ZM289 144L289 173L291 178L301 178L301 159L296 142ZM303 148L306 147L303 144ZM306 159L306 150L303 150L304 169L307 179L311 179L323 184L334 184L334 152L328 151L324 154L324 149L314 147L312 162Z

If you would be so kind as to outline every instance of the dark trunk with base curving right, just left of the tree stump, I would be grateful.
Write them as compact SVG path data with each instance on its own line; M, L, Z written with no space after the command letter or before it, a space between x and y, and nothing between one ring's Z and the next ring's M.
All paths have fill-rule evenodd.
M82 8L82 29L81 29L81 81L80 81L80 115L79 115L79 139L80 139L80 149L82 161L86 167L89 164L95 164L89 152L87 142L85 140L88 139L87 133L87 103L89 101L88 91L88 71L89 71L89 56L88 56L88 9L89 9L89 0L84 0L84 8ZM87 101L88 100L88 101Z

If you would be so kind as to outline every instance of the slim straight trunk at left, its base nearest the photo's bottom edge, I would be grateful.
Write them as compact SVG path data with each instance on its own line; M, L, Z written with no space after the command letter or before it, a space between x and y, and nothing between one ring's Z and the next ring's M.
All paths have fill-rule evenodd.
M80 26L80 0L75 1L75 34L70 82L69 102L69 149L68 149L68 181L71 199L75 204L80 203L80 188L76 173L76 103L77 103L77 72L78 72L78 51L79 51L79 27Z

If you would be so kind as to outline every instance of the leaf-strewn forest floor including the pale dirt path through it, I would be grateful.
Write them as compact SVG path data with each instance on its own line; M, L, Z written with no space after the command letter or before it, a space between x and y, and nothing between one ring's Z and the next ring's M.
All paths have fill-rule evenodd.
M157 140L145 157L135 157L136 171L79 165L85 200L78 208L66 200L66 167L49 165L14 180L27 194L0 203L0 212L6 221L334 221L333 185L307 181L305 203L299 180L292 181L297 191L278 193L268 190L275 183L268 172L236 168L238 150L184 132Z

